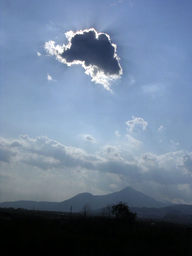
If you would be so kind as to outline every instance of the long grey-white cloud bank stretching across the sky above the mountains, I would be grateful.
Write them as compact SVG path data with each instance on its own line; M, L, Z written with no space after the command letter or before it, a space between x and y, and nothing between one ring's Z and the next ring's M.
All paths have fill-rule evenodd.
M20 135L17 140L0 138L0 145L1 176L6 179L6 168L20 166L25 166L26 170L32 168L33 172L37 168L38 173L42 173L41 179L48 171L52 182L60 173L68 180L70 173L78 172L79 181L76 182L85 184L94 180L101 190L111 184L118 187L134 183L153 186L154 191L158 188L162 200L192 203L192 152L180 150L159 156L146 153L135 157L129 150L107 144L95 154L88 154L81 148L65 146L46 136L31 139L28 135ZM15 177L9 178L15 182Z

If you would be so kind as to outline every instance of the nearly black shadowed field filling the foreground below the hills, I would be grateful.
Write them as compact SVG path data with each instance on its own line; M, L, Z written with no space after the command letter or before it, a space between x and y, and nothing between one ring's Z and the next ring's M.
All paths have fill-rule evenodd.
M0 209L1 252L20 255L192 255L191 225ZM5 254L4 254L5 255Z

